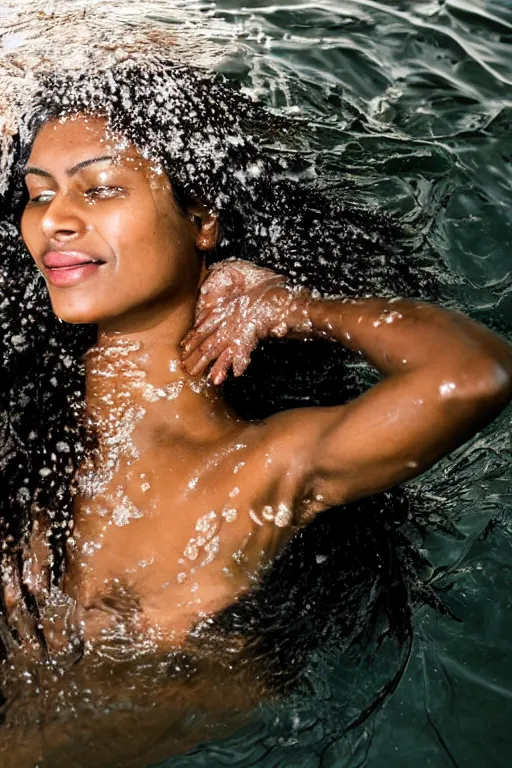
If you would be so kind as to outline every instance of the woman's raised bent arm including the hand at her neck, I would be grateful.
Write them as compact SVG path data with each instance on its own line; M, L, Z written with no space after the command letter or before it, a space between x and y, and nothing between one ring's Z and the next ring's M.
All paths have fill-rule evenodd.
M233 294L220 298L214 279L202 322L185 340L185 364L197 373L216 360L212 372L218 378L225 375L223 366L238 359L239 373L250 354L249 328L252 348L265 335L328 338L360 352L383 374L348 405L277 417L279 429L290 435L303 494L320 497L320 507L420 474L512 398L512 348L464 315L401 299L295 296L275 277L265 290L245 290L238 309Z

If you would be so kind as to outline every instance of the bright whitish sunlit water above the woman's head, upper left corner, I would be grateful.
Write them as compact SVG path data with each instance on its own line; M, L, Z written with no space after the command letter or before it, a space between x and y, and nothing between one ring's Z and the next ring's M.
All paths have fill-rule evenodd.
M213 68L232 47L212 40L208 8L188 0L50 0L44 10L32 0L7 0L0 12L0 194L12 171L13 138L23 134L43 74L106 72L141 55L158 66L162 54ZM222 24L216 29L221 37Z

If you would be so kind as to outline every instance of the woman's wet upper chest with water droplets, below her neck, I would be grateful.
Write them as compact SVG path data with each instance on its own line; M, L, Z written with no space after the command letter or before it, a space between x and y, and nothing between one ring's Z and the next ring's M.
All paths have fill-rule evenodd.
M90 490L77 500L68 575L90 625L129 614L141 630L186 634L253 585L293 532L294 483L257 431L159 441Z

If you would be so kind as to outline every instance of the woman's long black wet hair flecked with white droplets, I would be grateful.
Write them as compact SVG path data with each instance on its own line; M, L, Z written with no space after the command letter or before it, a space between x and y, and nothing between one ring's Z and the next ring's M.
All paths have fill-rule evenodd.
M285 161L280 151L300 144L292 123L225 78L172 58L164 43L112 43L104 56L99 46L80 66L66 66L65 57L41 59L24 86L30 92L10 91L0 159L0 515L7 576L20 572L23 542L39 518L51 530L54 585L65 569L73 478L84 451L81 358L95 340L94 328L54 317L18 230L21 166L46 121L103 116L113 135L165 170L184 209L201 201L215 211L222 239L211 262L247 259L322 294L434 292L430 273L400 247L397 227L347 199L348 192L293 180L300 152ZM19 54L7 63L21 66ZM228 380L224 394L244 417L258 419L344 402L361 389L358 371L341 345L269 341L241 380ZM403 533L411 518L428 514L421 500L398 489L324 513L295 536L249 597L216 617L212 630L243 635L265 659L262 675L281 689L323 646L360 653L389 637L406 647L412 607L438 603L420 579L424 561Z

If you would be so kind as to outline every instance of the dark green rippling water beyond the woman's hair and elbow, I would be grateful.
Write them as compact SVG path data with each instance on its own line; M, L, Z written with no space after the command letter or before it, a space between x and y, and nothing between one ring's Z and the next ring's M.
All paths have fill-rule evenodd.
M307 172L348 176L369 202L415 226L456 276L458 303L510 327L512 2L189 5L211 14L213 39L236 41L226 74L316 126ZM418 612L406 673L369 728L340 738L345 681L331 658L312 671L307 695L167 765L510 766L510 457L508 411L421 480L461 513L451 535L431 535L424 546L463 621Z

